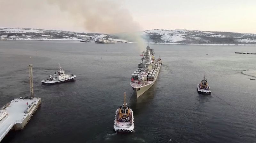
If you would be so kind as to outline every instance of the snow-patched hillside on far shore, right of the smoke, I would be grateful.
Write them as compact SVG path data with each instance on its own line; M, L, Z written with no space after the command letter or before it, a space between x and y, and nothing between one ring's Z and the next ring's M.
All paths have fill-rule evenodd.
M144 37L156 43L256 44L256 34L251 33L154 29L144 31Z

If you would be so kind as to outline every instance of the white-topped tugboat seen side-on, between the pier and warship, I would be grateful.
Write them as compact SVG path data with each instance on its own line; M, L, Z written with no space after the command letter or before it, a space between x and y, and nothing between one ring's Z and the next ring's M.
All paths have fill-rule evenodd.
M56 83L71 81L76 78L76 75L65 74L65 70L61 69L61 66L59 68L60 69L58 73L55 72L54 75L49 75L49 79L41 81L42 84L56 84Z

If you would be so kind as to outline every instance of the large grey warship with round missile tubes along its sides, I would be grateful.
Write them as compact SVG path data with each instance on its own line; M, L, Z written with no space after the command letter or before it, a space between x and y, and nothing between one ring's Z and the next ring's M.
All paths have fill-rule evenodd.
M138 64L138 69L133 72L130 82L132 89L136 91L137 98L156 82L162 63L160 59L157 61L154 59L154 49L149 45L141 56L141 62Z

